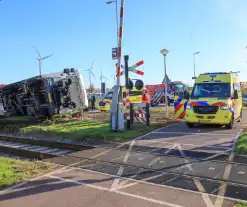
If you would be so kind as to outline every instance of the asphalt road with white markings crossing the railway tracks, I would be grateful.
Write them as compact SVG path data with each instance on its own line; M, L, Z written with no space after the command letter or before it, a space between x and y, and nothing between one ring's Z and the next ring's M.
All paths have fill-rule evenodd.
M53 158L58 170L0 192L0 206L234 206L247 200L247 159L232 152L246 124L178 123L114 148Z

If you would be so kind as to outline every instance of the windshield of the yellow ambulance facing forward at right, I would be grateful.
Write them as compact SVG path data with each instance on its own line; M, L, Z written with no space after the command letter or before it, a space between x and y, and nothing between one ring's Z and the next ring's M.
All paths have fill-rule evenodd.
M200 83L195 84L191 98L228 98L230 97L229 83Z

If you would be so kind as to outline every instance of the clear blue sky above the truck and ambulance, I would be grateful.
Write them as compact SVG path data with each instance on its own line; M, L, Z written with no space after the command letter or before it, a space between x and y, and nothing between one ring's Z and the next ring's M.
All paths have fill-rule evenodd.
M120 2L120 0L118 0ZM247 80L246 0L125 0L123 54L130 65L144 60L146 84L164 76L160 49L170 52L167 71L172 80L191 83L193 52L197 72L240 70ZM91 66L99 86L100 70L111 87L116 45L115 6L104 0L3 0L0 2L0 83L38 74L35 45L43 72ZM83 72L88 84L88 74ZM132 77L138 77L132 75ZM97 83L96 83L97 82ZM123 83L123 79L122 79Z

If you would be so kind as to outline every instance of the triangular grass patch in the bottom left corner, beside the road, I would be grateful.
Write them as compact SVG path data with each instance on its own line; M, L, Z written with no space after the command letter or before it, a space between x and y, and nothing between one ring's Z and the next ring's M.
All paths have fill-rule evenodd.
M0 189L31 178L49 167L51 164L0 158Z

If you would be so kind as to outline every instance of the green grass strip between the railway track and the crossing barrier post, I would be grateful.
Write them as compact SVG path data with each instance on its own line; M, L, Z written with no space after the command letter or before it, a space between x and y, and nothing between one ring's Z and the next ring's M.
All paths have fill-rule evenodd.
M159 127L161 127L161 125L158 124L150 127L142 124L135 124L133 125L132 130L113 132L108 123L74 121L49 126L29 126L22 128L21 132L23 134L38 134L46 137L64 137L76 140L102 139L124 141L148 133Z

